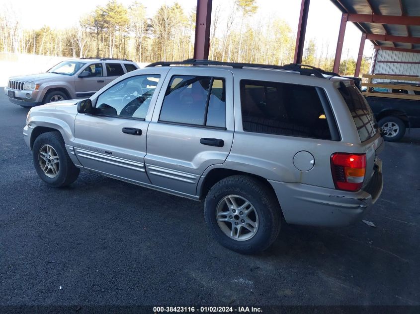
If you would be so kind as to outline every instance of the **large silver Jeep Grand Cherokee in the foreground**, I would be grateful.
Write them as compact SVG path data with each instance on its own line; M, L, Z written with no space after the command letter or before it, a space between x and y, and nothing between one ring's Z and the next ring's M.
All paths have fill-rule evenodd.
M32 108L23 134L48 185L87 169L204 200L215 238L242 253L267 249L282 221L357 221L383 187L384 142L353 81L296 64L153 63Z

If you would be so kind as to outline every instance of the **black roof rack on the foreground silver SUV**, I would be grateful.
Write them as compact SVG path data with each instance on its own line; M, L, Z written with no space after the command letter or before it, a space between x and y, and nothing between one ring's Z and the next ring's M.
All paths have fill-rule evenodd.
M218 66L232 66L233 68L243 68L243 67L256 67L256 68L269 68L269 69L277 69L277 70L286 70L286 71L293 71L298 72L301 75L314 75L316 77L325 78L323 74L325 74L324 70L313 68L311 66L307 66L307 68L302 67L301 64L290 63L286 65L269 65L269 64L258 64L258 63L237 63L237 62L220 62L220 61L212 61L212 60L201 60L201 59L187 59L184 61L161 61L150 63L146 65L146 67L152 66L170 66L170 65L218 65ZM338 75L338 74L337 74Z

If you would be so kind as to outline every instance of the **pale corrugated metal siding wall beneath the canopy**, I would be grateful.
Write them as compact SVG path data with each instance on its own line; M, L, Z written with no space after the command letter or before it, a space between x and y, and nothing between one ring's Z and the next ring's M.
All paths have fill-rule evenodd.
M420 54L392 50L379 50L376 57L375 73L399 74L399 75L420 75L420 64L416 63L378 63L378 61L404 61L420 62ZM389 80L377 79L377 82Z

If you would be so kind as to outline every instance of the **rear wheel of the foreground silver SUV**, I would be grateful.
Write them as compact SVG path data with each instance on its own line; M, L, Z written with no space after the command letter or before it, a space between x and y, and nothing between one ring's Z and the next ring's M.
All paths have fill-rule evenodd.
M216 240L248 254L264 251L276 240L280 210L271 190L242 175L216 183L204 201L204 217Z

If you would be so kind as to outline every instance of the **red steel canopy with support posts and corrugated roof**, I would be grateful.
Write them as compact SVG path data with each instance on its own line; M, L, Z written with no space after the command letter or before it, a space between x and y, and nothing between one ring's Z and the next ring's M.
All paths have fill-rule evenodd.
M310 0L301 0L294 63L302 63ZM342 12L333 72L339 70L345 27L362 32L355 76L359 75L366 40L379 50L420 53L420 0L331 0ZM212 0L197 0L194 58L207 59ZM375 60L373 60L375 63Z

